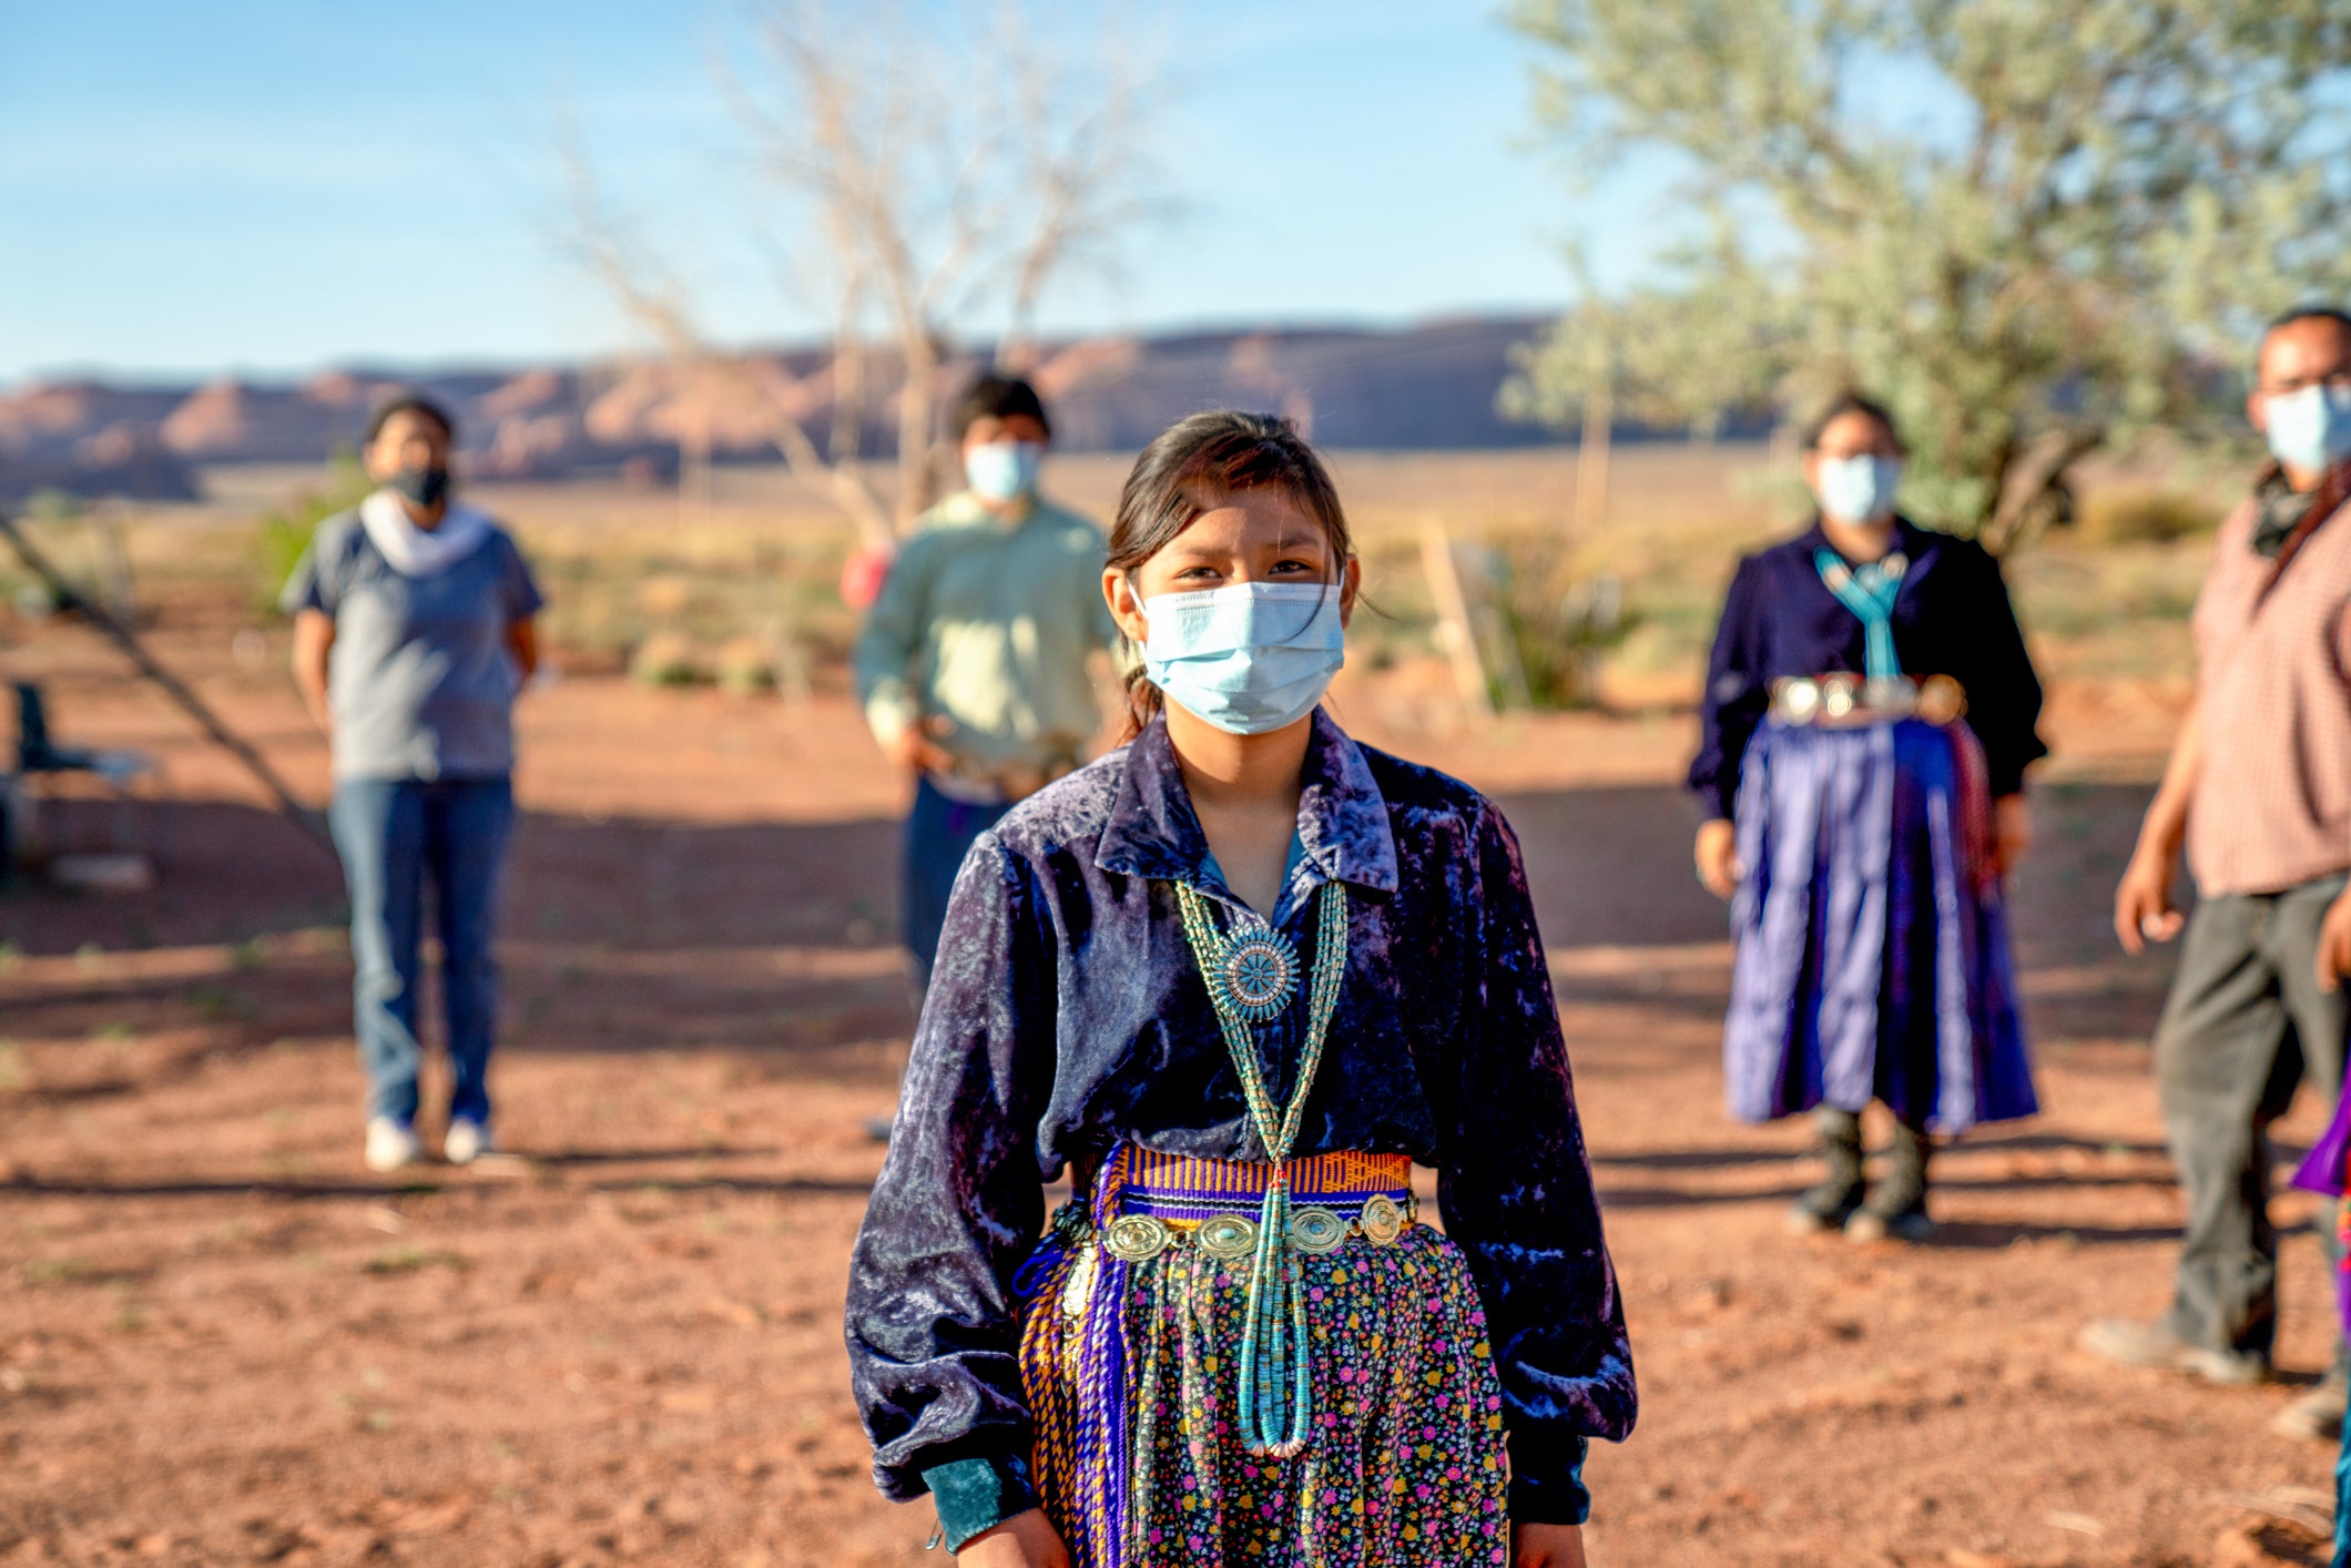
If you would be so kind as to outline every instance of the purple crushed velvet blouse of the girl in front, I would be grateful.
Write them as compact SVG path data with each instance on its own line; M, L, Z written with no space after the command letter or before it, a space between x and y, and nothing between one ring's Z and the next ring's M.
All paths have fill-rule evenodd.
M1436 1168L1493 1335L1512 1514L1575 1523L1585 1441L1632 1432L1636 1396L1519 844L1476 790L1317 712L1298 846L1281 929L1312 964L1312 891L1338 879L1349 931L1295 1152ZM891 1497L985 1460L1002 1512L1027 1500L1011 1281L1044 1182L1114 1143L1265 1159L1171 882L1244 907L1164 724L1016 806L964 860L849 1276L851 1378ZM1277 1103L1305 990L1258 1027Z

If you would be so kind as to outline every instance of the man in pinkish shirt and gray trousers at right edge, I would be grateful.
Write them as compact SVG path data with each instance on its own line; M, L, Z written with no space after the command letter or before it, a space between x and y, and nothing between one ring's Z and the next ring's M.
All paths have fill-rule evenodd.
M2306 308L2262 339L2245 402L2276 458L2222 524L2196 602L2196 701L2139 846L2114 931L2139 952L2179 931L2179 973L2156 1027L2156 1081L2189 1218L2172 1307L2102 1319L2081 1345L2109 1361L2212 1382L2271 1371L2278 1232L2269 1124L2309 1074L2344 1074L2351 973L2351 317ZM2196 912L2172 907L2186 844ZM2335 1227L2320 1225L2335 1251ZM2332 1439L2344 1349L2278 1427Z

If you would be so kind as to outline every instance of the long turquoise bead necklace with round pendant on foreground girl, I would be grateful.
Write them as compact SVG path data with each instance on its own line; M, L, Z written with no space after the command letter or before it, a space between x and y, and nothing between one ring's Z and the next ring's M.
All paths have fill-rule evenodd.
M1298 1058L1298 1081L1291 1103L1274 1117L1274 1098L1265 1088L1258 1041L1248 1025L1281 1013L1298 994L1298 950L1265 922L1244 922L1239 931L1218 931L1208 900L1187 882L1176 884L1183 907L1183 933L1192 943L1199 978L1208 983L1215 1023L1241 1077L1241 1098L1258 1128L1265 1157L1274 1161L1274 1180L1258 1208L1258 1251L1248 1262L1248 1302L1241 1307L1241 1446L1260 1460L1288 1460L1305 1453L1314 1432L1314 1380L1307 1366L1307 1293L1291 1246L1291 1145L1307 1114L1314 1072L1321 1067L1324 1039L1331 1034L1331 1011L1347 973L1347 891L1326 882L1317 893L1321 924L1314 933L1314 980L1307 990L1307 1039Z

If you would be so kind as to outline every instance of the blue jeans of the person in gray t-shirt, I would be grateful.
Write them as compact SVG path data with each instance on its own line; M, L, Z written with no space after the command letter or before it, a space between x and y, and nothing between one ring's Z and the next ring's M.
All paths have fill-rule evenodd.
M367 1114L416 1119L416 938L426 879L442 940L449 1016L449 1117L489 1126L489 1046L498 1032L491 954L498 865L515 820L508 778L346 778L334 788L334 842L350 889L355 1034Z

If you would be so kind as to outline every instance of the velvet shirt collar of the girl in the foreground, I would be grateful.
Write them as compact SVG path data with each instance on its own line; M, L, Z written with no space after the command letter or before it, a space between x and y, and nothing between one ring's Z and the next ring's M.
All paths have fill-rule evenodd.
M1396 835L1387 825L1387 799L1364 750L1321 708L1314 710L1305 790L1298 795L1298 846L1305 851L1300 870L1317 882L1396 891ZM1126 748L1126 776L1093 863L1124 877L1197 886L1206 858L1208 837L1192 813L1166 719L1152 719Z

